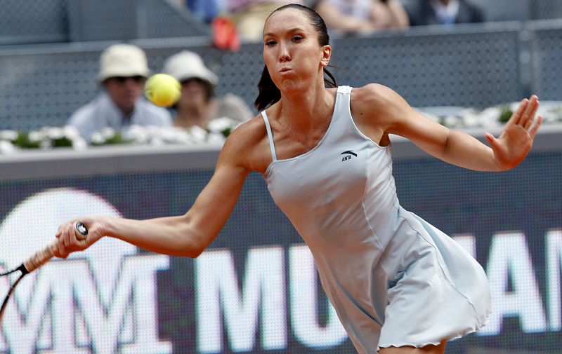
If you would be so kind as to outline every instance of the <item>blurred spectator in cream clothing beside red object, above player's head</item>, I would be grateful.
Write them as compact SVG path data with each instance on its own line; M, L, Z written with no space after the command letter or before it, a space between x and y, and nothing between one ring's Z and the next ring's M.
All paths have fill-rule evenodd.
M232 16L240 38L260 41L263 24L276 8L285 4L303 4L301 0L223 0L226 10Z

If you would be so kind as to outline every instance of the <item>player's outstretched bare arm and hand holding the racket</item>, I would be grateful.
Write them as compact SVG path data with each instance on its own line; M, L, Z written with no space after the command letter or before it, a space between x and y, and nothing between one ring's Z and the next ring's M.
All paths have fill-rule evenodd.
M185 215L146 220L84 217L80 220L89 228L87 246L110 236L153 252L197 257L226 224L250 172L240 161L244 154L238 153L244 149L244 139L236 139L235 135L227 139L213 177ZM84 250L76 236L74 221L61 226L55 256L66 257L69 252Z

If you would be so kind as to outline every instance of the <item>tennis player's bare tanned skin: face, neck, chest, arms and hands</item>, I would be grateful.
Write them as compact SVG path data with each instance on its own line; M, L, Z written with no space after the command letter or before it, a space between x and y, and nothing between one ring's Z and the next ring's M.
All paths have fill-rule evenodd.
M306 153L325 135L334 109L335 89L324 88L322 69L332 49L320 46L308 18L296 9L277 11L264 27L263 58L281 100L267 109L277 157ZM538 100L522 100L518 110L496 139L486 134L491 147L463 132L435 123L419 114L400 95L385 86L370 84L353 89L351 113L360 130L381 145L389 134L412 140L428 154L472 170L514 168L528 154L542 121L533 124ZM83 217L89 227L84 243L77 239L74 222L60 226L57 257L84 250L103 236L125 240L153 252L197 257L217 236L232 212L244 180L251 171L265 173L271 163L266 127L256 116L228 137L218 156L209 184L185 215L148 220ZM221 200L216 203L216 200ZM440 346L381 348L381 354L439 354Z

